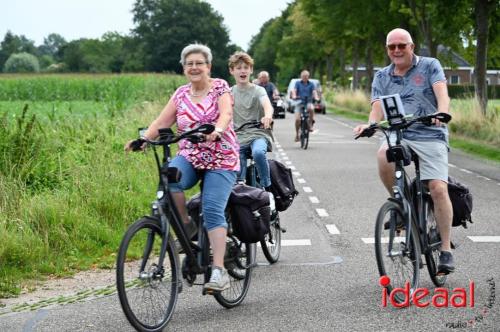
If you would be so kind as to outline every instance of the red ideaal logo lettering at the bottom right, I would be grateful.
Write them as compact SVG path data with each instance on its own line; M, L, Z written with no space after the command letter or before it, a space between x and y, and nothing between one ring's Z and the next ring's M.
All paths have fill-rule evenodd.
M388 294L386 287L391 283L388 276L382 276L379 279L380 286L384 287L382 291L382 306L387 307L387 298L395 308L408 307L410 303L419 308L425 308L432 304L436 308L447 308L449 306L474 307L474 281L469 282L469 287L454 288L451 292L447 288L438 287L433 292L427 288L416 288L410 293L410 282L406 282L404 288L395 287ZM388 296L389 295L389 296ZM430 300L425 300L428 295L432 295ZM398 301L397 298L403 298L403 301Z

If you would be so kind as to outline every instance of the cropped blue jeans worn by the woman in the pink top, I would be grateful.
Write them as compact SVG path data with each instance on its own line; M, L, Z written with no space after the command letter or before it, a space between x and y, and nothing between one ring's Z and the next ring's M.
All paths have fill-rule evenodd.
M169 166L176 167L182 172L181 180L170 184L171 192L182 192L189 189L200 179L200 173L182 156L176 156L172 159ZM204 226L207 231L218 227L227 228L224 210L236 182L236 172L215 169L206 170L201 174L204 176L201 193Z

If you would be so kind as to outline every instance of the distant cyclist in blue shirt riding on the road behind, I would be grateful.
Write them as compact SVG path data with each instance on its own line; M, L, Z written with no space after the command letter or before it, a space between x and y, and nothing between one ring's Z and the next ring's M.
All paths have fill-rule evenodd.
M311 121L309 131L313 131L314 126L314 108L312 101L319 100L318 91L316 91L316 86L313 82L309 81L309 72L307 70L303 70L300 73L300 81L295 83L295 87L291 92L292 99L300 99L304 101L307 99L307 111L309 112L309 119ZM300 110L302 108L302 104L298 103L295 105L294 113L295 113L295 142L299 141L299 128L300 128Z

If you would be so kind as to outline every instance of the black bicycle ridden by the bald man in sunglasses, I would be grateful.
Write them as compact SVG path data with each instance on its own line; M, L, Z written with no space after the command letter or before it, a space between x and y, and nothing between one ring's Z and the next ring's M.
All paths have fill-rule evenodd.
M422 254L434 285L440 287L446 282L447 276L437 271L441 239L432 198L420 180L418 156L401 144L406 128L417 122L431 125L433 119L447 123L451 115L434 113L421 117L399 117L396 121L371 124L355 137L371 137L375 131L382 131L387 140L387 160L395 163L393 197L382 205L375 224L375 255L379 274L391 277L391 283L386 287L388 295L395 287L404 288L407 282L410 283L410 294L418 288L420 268L423 267ZM391 132L396 134L394 143L390 140ZM410 182L404 167L410 165L411 161L414 162L415 177ZM384 244L387 244L386 248ZM401 303L404 295L396 293L395 299Z

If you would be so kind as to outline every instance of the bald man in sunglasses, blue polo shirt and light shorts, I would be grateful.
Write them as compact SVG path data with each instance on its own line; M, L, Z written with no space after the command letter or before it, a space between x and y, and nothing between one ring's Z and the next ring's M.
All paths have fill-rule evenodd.
M391 64L375 74L372 83L369 123L384 118L380 97L399 94L406 114L422 116L435 112L448 112L450 98L443 68L437 59L414 54L415 45L408 31L394 29L387 34L386 49ZM359 125L354 133L360 134L368 125ZM434 214L441 235L441 254L438 273L455 270L451 255L451 224L453 209L448 196L448 129L436 121L433 126L415 124L403 136L403 144L411 147L420 159L422 180L428 181L434 202ZM379 176L392 193L394 165L387 162L387 143L377 153Z

